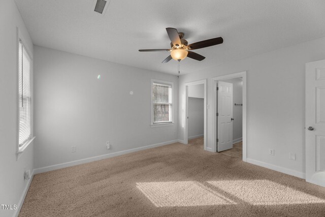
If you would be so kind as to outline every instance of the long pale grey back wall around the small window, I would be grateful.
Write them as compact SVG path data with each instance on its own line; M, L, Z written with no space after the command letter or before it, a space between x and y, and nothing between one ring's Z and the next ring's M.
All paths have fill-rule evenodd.
M36 168L177 140L176 76L39 46L34 56ZM173 126L150 127L151 78L174 82Z

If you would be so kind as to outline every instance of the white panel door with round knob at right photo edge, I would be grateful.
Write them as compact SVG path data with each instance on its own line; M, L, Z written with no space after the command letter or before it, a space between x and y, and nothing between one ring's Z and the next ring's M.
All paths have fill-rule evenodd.
M306 181L325 187L325 60L306 64Z

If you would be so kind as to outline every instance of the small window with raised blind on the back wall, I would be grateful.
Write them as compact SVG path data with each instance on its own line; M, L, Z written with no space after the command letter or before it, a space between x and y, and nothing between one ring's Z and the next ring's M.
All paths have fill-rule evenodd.
M173 83L151 80L151 124L173 122Z

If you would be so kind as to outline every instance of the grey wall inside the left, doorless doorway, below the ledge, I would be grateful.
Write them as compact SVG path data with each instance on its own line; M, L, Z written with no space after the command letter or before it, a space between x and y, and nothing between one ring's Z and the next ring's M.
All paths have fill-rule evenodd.
M204 84L202 84L204 85ZM193 85L198 86L198 85ZM190 87L190 86L189 86ZM188 98L188 139L204 134L204 98Z

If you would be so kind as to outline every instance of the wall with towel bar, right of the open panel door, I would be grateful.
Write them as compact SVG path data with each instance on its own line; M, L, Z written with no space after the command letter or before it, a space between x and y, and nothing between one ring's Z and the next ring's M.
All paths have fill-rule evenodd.
M243 137L243 107L235 106L235 103L243 103L243 80L233 78L223 81L233 84L233 141L239 142Z

